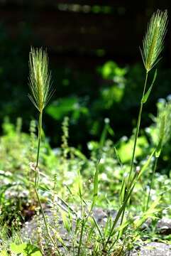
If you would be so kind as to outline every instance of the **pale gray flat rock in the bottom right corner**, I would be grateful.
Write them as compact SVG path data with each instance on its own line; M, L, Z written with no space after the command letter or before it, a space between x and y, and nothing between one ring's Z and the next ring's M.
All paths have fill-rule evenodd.
M171 245L162 242L149 242L140 247L140 250L133 250L127 256L170 256Z

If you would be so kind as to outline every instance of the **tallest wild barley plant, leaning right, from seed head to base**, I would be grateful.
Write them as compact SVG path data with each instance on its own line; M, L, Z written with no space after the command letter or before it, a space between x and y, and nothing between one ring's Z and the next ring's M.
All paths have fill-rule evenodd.
M111 226L111 230L109 232L108 238L106 240L106 243L104 245L105 250L106 246L109 244L111 241L111 237L114 235L114 230L116 228L116 224L121 217L121 225L123 223L123 218L125 215L125 210L126 206L128 204L128 201L131 198L131 193L133 192L133 188L136 185L136 182L138 181L138 178L142 174L142 172L147 168L149 161L152 159L153 154L151 154L149 161L145 166L143 167L142 170L139 172L134 172L133 173L133 167L134 167L134 161L135 161L135 156L136 156L136 144L137 144L137 139L138 139L138 134L140 131L140 121L141 121L141 114L143 111L143 105L145 102L147 102L148 97L150 95L150 92L153 88L153 84L155 82L156 76L157 76L157 70L155 70L155 74L153 77L153 81L151 85L147 88L147 83L148 83L148 73L155 67L155 65L158 63L160 60L160 53L163 49L163 44L164 44L164 38L165 38L165 33L167 30L167 11L156 11L153 16L150 18L150 22L148 24L148 30L145 34L145 38L143 39L143 49L140 49L140 53L143 58L143 64L145 67L145 83L143 86L143 95L140 100L140 110L138 113L138 121L136 125L136 134L135 134L135 139L133 143L133 154L131 158L131 168L128 174L128 184L126 188L126 182L123 178L123 183L122 183L122 188L121 188L121 207L118 210L118 213L116 215L116 218L114 219L114 223ZM114 246L115 242L118 240L118 238L121 238L121 235L126 229L123 228L120 232L118 232L118 236L116 240L112 243L111 247ZM110 248L111 248L110 247Z

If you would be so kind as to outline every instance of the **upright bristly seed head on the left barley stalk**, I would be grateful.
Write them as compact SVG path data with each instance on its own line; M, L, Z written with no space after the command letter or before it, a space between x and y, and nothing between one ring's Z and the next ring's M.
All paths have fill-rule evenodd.
M53 92L51 90L51 74L48 71L48 55L45 50L31 48L29 55L29 86L31 95L28 97L39 112L43 112Z

